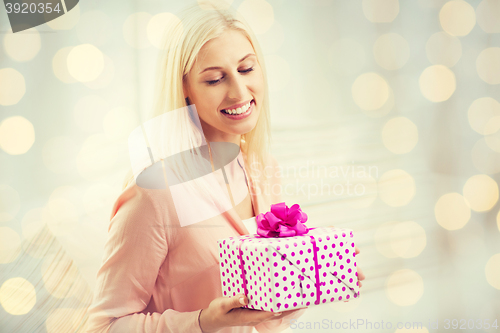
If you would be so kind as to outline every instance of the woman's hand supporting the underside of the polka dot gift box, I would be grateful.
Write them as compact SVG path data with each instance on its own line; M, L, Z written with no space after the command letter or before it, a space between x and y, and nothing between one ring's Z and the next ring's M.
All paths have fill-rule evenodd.
M248 304L244 294L233 297L218 297L210 302L207 309L200 314L200 328L203 333L217 332L228 326L255 326L266 320L280 319L297 310L284 312L268 312L253 309L243 309Z

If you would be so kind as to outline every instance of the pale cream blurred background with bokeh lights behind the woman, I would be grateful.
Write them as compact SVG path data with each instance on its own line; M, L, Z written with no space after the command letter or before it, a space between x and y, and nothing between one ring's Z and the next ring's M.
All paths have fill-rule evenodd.
M0 11L2 332L84 330L128 134L186 4L85 0L16 34ZM227 4L265 53L284 199L361 249L361 298L301 321L500 319L500 0Z

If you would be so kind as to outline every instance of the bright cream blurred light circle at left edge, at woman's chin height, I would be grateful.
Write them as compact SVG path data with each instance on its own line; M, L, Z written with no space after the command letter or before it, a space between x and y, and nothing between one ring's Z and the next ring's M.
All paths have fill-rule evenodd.
M22 116L13 116L0 123L0 148L7 154L26 153L35 142L35 128Z

